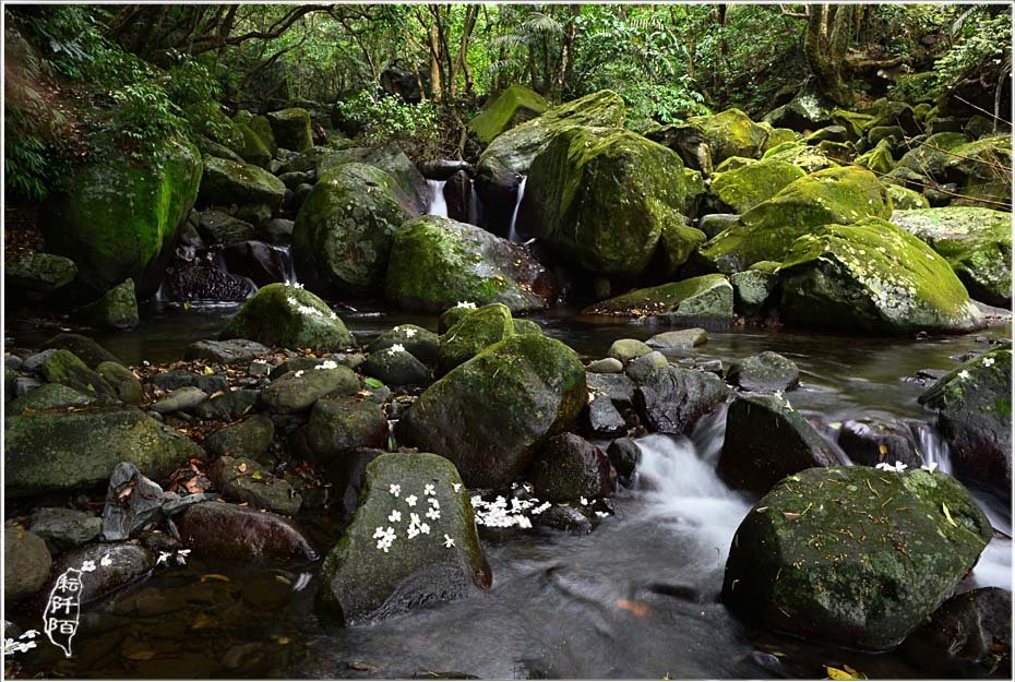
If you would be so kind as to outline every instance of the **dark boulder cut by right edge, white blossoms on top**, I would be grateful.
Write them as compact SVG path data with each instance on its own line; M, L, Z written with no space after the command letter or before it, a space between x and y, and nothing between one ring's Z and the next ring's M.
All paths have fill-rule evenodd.
M956 474L1011 499L1012 350L983 354L942 376L920 396L938 410L938 429Z

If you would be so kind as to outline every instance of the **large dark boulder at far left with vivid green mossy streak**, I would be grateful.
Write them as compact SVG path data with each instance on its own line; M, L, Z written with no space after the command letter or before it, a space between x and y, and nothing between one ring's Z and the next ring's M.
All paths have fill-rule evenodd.
M179 227L201 183L201 156L189 143L162 143L151 161L112 155L64 176L39 213L47 249L77 264L93 296L133 278L155 294Z

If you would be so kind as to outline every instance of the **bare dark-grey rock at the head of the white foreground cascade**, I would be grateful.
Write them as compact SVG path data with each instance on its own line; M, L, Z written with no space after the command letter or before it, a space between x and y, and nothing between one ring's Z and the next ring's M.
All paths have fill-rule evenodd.
M690 433L728 395L729 386L715 374L670 364L645 378L634 392L634 405L652 431Z

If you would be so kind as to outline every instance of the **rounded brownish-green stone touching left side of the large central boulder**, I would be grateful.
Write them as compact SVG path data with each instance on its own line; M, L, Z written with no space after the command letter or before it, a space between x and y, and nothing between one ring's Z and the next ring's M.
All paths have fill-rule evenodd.
M385 447L387 418L372 400L351 396L322 398L314 403L298 442L304 458L327 465L357 448Z

